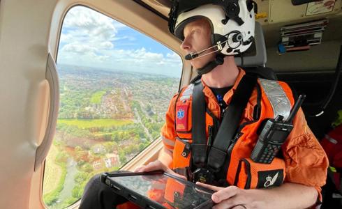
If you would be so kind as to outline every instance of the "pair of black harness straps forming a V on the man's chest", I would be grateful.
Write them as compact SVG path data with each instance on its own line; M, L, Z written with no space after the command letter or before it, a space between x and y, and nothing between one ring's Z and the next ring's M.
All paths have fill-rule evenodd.
M225 161L227 160L229 145L235 137L237 127L241 119L242 111L251 97L253 88L257 82L257 77L253 75L244 75L237 89L235 90L232 100L225 110L222 123L218 128L218 133L211 147L207 147L206 124L205 124L205 95L203 93L203 85L200 80L195 82L193 88L192 102L192 136L193 144L191 145L192 162L195 167L204 168L211 173L221 171ZM208 153L208 154L207 154Z

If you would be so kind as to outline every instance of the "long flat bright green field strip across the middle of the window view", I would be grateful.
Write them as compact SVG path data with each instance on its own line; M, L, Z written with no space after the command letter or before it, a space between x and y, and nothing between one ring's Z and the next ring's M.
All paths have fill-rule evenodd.
M57 123L66 125L75 125L79 128L91 127L113 127L132 123L131 120L113 120L113 119L59 119Z

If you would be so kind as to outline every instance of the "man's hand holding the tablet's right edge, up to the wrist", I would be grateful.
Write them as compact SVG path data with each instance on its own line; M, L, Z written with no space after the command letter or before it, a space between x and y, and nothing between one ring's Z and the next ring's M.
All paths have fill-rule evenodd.
M248 190L239 187L215 187L203 183L196 183L202 187L216 191L211 199L216 203L215 209L232 208L232 209L250 209L255 208L255 200L251 194L247 194Z

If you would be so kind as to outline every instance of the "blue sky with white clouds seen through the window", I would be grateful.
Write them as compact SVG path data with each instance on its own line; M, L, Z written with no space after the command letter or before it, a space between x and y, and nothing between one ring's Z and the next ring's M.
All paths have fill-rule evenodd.
M83 6L71 8L61 30L57 63L181 77L168 47Z

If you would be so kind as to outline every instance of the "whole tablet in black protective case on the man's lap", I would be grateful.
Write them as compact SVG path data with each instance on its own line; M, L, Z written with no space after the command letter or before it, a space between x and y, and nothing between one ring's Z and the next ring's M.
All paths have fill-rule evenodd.
M214 191L181 178L152 171L147 173L103 173L101 181L142 208L211 208Z

